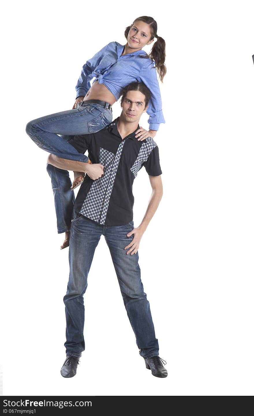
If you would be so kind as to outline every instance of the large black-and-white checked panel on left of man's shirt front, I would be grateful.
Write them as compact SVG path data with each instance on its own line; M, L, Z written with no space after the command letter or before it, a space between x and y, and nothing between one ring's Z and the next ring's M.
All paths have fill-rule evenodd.
M124 143L125 142L122 142L118 147L116 157L110 151L100 147L100 163L104 166L104 173L101 178L93 181L93 184L80 210L80 214L90 218L91 220L100 222L100 224L105 224L109 199L113 189ZM113 163L114 158L115 161Z

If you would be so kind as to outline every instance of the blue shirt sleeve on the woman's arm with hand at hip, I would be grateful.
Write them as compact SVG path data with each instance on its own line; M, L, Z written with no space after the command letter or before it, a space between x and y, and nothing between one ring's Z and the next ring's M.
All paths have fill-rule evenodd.
M76 98L80 97L80 95L85 97L85 95L87 94L88 89L90 89L91 87L91 74L99 64L101 58L106 52L107 47L108 45L104 46L99 52L97 52L91 59L88 59L88 61L86 61L86 63L83 65L80 77L76 85Z

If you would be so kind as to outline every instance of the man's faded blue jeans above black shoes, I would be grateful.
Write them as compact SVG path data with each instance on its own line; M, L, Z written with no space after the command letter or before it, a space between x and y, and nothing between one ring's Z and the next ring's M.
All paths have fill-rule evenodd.
M133 228L133 221L125 225L107 226L73 211L69 248L70 276L67 293L63 298L66 315L66 355L80 357L81 352L85 350L83 295L86 292L93 255L102 234L113 260L139 354L144 358L159 354L150 305L141 282L138 252L131 255L126 254L128 250L124 250L133 239L133 235L127 237L126 234Z

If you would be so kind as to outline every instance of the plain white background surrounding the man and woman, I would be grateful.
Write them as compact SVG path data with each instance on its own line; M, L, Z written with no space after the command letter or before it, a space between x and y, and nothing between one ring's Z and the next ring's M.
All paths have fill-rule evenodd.
M253 394L253 3L24 1L2 22L2 352L5 395ZM64 379L68 249L47 154L28 121L72 108L82 65L153 16L166 40L163 198L139 265L168 377L145 368L102 236L85 295L77 375ZM149 51L149 49L146 49ZM119 103L113 116L119 115ZM141 125L147 125L147 115ZM134 181L134 226L151 187Z

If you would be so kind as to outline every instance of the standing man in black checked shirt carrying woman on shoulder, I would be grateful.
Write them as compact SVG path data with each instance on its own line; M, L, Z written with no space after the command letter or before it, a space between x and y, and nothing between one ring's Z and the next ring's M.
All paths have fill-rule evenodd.
M48 158L48 163L57 168L88 173L75 200L70 229L70 276L64 297L66 360L61 369L63 377L76 374L78 358L85 349L83 295L102 234L111 253L139 353L154 376L167 376L163 360L158 357L158 339L138 265L140 240L163 193L158 146L151 138L143 141L135 138L149 97L150 91L144 84L129 84L123 89L120 117L98 133L74 136L69 143L80 153L88 149L92 164L54 155ZM141 224L134 228L132 184L142 166L149 175L152 196Z

